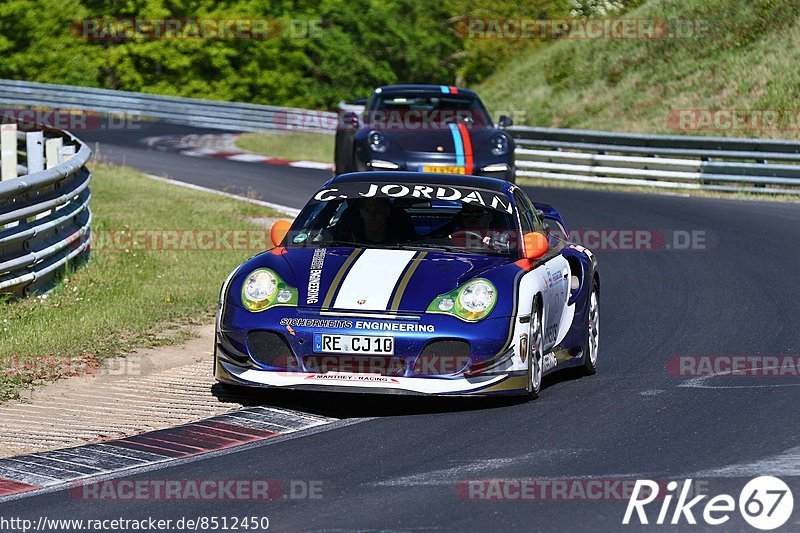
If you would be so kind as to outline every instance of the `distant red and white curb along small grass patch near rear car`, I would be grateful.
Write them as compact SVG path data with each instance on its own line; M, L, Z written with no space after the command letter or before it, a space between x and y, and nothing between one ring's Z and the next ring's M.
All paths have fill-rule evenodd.
M172 152L189 157L211 157L244 163L266 163L269 165L288 165L298 168L333 170L333 165L319 161L291 161L280 157L269 157L246 152L236 146L238 133L220 135L165 135L147 137L144 143L151 150Z

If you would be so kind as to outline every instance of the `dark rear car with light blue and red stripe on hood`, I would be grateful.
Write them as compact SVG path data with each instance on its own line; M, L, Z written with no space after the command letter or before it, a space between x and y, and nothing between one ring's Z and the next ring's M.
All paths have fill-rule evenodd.
M514 182L514 140L497 126L478 95L440 85L375 89L359 119L346 115L336 132L335 174L405 170L472 174Z

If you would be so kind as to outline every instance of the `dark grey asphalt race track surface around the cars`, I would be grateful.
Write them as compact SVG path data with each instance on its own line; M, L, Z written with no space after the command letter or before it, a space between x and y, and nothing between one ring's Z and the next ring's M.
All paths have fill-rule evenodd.
M101 154L293 207L328 175L149 152L129 139L103 145ZM320 480L321 499L87 503L60 491L2 504L0 516L267 516L276 531L658 531L664 527L622 526L626 501L469 501L456 488L488 478L702 478L713 494L738 498L747 479L772 474L795 494L794 515L781 530L800 530L800 380L689 381L666 370L674 355L800 354L800 204L528 192L555 205L571 228L694 230L707 237L705 249L597 252L596 376L556 375L529 403L263 394L259 401L270 405L363 420L139 478ZM655 520L657 506L648 510ZM702 524L701 514L695 512ZM684 520L667 529L709 527ZM755 531L737 513L715 530Z

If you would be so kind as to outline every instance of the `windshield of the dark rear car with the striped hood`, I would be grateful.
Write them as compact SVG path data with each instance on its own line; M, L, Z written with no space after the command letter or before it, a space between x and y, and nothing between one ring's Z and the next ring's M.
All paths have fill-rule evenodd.
M477 97L459 94L378 94L365 121L372 127L384 128L397 122L413 121L439 127L458 122L476 128L492 126L489 114Z

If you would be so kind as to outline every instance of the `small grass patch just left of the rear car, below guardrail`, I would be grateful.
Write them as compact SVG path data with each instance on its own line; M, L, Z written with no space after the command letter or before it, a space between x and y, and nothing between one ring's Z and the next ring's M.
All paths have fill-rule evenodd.
M245 133L236 146L257 154L290 161L333 161L334 136L327 133Z

